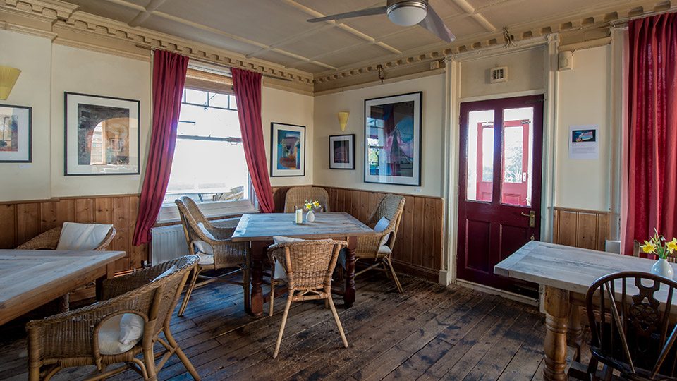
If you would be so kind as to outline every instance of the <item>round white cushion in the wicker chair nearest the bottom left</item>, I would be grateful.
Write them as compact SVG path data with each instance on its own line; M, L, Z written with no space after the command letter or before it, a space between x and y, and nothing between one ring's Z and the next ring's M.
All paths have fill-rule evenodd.
M99 328L99 351L114 355L125 353L143 336L143 318L134 313L115 315Z

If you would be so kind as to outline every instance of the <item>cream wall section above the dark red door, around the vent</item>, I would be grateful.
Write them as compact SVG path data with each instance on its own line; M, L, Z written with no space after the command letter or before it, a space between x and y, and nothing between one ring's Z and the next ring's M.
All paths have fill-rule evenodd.
M545 47L490 56L461 63L461 98L485 97L545 87ZM508 66L508 81L489 82L489 69ZM500 98L500 97L496 97Z

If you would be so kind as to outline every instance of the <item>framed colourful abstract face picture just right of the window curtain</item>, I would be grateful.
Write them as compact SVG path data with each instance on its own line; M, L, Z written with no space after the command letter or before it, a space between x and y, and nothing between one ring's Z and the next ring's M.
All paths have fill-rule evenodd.
M305 176L305 126L270 123L270 176Z

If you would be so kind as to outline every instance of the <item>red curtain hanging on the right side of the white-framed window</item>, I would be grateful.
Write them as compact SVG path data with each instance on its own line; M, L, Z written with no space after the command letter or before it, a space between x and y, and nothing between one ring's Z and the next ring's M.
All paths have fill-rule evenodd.
M232 68L233 92L238 102L238 118L245 159L260 210L274 213L275 204L266 165L266 145L261 123L261 74Z

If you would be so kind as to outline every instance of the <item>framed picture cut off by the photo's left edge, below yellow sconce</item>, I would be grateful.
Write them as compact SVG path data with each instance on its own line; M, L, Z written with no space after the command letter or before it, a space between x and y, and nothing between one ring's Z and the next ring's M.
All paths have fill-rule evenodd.
M31 162L31 112L30 107L0 104L0 162Z

